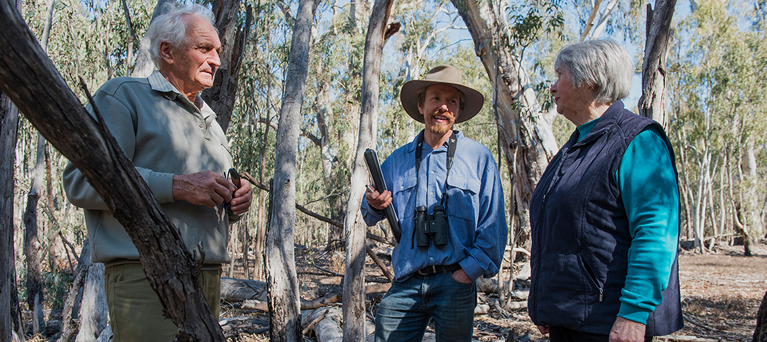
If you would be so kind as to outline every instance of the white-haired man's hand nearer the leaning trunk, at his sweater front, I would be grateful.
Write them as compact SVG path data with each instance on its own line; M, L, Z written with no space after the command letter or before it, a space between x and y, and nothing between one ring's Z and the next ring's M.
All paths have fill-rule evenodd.
M173 176L173 199L176 201L214 208L223 202L231 201L232 192L235 192L232 182L212 171Z

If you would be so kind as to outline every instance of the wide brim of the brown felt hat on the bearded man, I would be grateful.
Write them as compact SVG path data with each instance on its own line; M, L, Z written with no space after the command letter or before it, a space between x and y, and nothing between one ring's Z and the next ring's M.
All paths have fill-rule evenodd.
M400 103L402 104L402 107L407 115L410 115L413 120L416 120L420 123L423 123L423 114L421 114L421 112L418 110L418 92L432 84L447 84L455 87L457 90L460 90L463 93L466 101L464 103L463 110L461 110L458 117L456 118L456 123L462 123L471 119L477 113L479 113L479 110L482 110L482 106L485 104L485 97L482 96L482 93L479 93L479 91L470 87L466 87L463 84L430 80L407 81L405 84L403 84L402 90L400 90Z

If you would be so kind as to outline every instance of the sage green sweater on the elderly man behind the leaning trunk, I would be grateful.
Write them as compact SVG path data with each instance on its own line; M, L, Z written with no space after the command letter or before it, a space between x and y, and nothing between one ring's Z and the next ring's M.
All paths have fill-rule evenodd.
M216 113L197 96L189 101L155 71L147 78L117 77L94 94L110 132L149 185L154 198L179 229L189 250L202 242L206 268L229 263L229 218L223 206L208 208L173 200L173 175L211 170L225 174L232 156ZM88 110L92 113L91 105ZM91 260L105 265L139 262L136 247L104 200L71 163L64 190L84 209Z

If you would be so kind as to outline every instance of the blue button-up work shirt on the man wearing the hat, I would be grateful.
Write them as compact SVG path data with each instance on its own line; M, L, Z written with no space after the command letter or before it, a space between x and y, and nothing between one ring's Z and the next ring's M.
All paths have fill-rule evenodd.
M402 238L392 253L395 281L404 281L426 266L456 262L472 281L482 275L492 277L499 271L508 229L498 166L486 146L459 131L456 136L456 156L447 179L447 245L437 247L432 241L429 247L418 247L414 230L415 207L426 206L426 212L432 214L433 206L443 198L447 143L436 150L423 144L417 181L418 136L381 164L387 189L392 192L391 205L402 228ZM385 218L384 211L368 206L367 200L362 201L360 210L370 226Z

